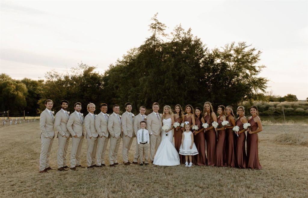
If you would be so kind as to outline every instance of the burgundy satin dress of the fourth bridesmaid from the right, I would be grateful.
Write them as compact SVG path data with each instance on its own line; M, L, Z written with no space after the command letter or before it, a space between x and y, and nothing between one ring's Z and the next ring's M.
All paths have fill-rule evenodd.
M218 127L221 128L221 119L218 118ZM226 150L225 150L225 139L226 139L226 130L217 130L217 144L216 144L216 166L226 167Z

